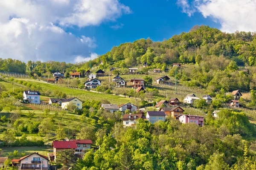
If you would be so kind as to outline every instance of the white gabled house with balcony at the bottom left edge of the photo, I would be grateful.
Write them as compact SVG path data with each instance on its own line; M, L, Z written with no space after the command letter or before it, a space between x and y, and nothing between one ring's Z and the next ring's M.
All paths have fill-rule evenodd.
M12 163L14 164L15 162L18 162L19 170L48 170L49 168L48 157L36 152L20 159L12 159Z

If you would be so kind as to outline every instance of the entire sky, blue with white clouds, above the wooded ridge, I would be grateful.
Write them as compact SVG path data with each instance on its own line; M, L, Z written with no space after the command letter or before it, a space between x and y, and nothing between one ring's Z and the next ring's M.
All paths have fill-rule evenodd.
M0 0L0 58L88 61L195 25L256 31L256 0Z

